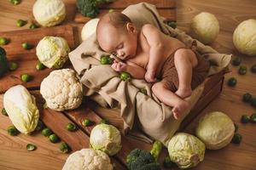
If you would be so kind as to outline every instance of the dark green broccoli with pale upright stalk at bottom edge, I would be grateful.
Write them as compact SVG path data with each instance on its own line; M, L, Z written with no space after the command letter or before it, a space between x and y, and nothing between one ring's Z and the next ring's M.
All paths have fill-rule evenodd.
M127 167L130 170L160 170L157 159L162 150L160 141L155 141L150 152L148 150L132 150L126 157Z

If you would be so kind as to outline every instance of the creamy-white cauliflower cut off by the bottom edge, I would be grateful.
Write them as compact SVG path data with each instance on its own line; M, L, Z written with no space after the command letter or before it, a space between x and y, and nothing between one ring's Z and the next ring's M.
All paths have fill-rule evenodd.
M83 149L67 157L62 170L112 170L107 154L101 150Z

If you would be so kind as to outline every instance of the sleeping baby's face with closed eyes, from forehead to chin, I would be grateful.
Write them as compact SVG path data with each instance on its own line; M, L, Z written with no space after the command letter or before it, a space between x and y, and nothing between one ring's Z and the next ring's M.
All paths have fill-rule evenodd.
M137 32L117 30L113 26L102 28L97 35L101 48L119 59L131 59L137 53Z

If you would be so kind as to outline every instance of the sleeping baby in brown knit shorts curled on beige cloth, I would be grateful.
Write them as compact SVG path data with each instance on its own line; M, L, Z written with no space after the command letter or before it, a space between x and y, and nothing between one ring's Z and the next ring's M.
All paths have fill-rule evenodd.
M105 14L98 22L96 37L104 51L121 60L114 60L114 71L126 71L131 77L155 82L154 95L173 107L175 119L189 107L184 98L207 77L208 62L183 42L149 24L138 30L125 14ZM160 82L156 82L156 77Z

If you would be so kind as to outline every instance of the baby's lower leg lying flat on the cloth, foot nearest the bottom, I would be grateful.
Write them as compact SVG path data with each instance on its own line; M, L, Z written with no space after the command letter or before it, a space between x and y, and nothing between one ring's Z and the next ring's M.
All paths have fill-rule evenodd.
M175 119L189 108L189 103L172 93L165 81L154 83L152 91L161 102L173 107L172 112Z

